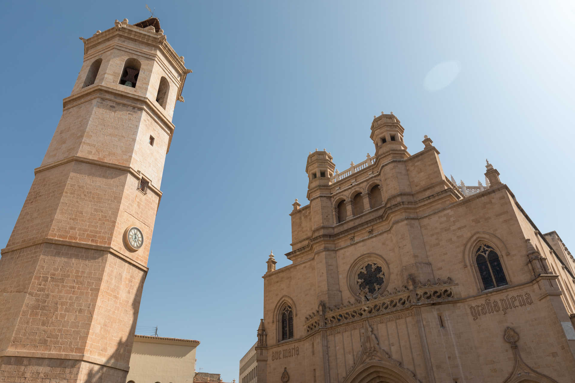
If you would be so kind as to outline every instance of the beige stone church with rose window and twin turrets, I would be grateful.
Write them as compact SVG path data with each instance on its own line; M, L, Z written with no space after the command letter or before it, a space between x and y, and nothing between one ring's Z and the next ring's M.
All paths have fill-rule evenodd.
M393 114L343 172L309 153L292 264L264 278L258 383L575 382L575 263L486 165L456 185Z

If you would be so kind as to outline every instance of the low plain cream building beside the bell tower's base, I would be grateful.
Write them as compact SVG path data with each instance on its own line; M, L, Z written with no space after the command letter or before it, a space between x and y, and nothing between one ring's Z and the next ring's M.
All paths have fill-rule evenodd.
M128 383L193 383L199 341L135 335Z

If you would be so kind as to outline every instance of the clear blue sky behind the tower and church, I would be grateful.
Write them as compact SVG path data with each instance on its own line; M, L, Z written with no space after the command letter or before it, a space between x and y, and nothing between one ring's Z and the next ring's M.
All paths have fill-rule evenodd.
M197 368L238 378L267 256L289 263L309 151L346 169L393 113L457 181L485 158L543 233L575 250L573 2L2 3L0 242L5 246L82 65L79 36L155 7L193 69L174 113L138 326L198 339Z

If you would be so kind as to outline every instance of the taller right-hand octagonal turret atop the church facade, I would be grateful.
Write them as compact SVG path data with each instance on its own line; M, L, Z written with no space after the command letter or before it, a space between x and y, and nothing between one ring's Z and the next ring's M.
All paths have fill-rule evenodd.
M403 127L400 121L393 115L381 112L379 117L373 116L371 123L371 135L375 145L375 156L389 156L392 158L407 158L407 146L403 143ZM431 140L430 140L431 141Z

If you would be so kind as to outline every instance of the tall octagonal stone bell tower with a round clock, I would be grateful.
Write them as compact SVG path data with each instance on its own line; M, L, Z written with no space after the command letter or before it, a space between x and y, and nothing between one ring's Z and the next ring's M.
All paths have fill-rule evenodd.
M0 381L125 382L187 73L156 18L84 61L0 259Z

